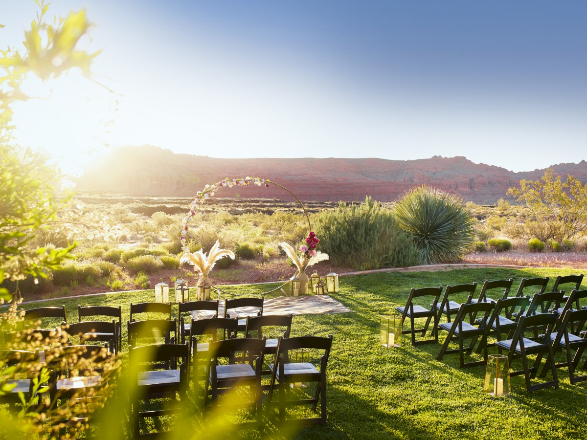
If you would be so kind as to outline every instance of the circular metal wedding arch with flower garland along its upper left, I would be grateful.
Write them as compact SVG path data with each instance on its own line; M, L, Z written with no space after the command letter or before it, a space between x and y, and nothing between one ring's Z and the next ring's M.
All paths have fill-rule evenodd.
M187 246L187 231L189 229L188 223L190 222L190 219L195 215L195 212L197 211L197 209L201 205L205 204L205 202L208 199L214 197L216 192L219 191L221 188L225 188L225 187L232 188L235 186L236 187L248 187L251 183L256 186L259 186L259 187L262 186L265 188L269 188L269 185L275 185L276 187L279 187L279 188L283 189L284 191L288 192L292 197L294 197L296 199L296 202L298 202L298 204L302 208L303 214L305 214L306 220L308 221L308 231L312 231L312 224L310 222L310 216L308 215L308 211L306 211L306 208L303 206L303 204L299 200L299 198L296 197L296 195L293 192L289 191L289 189L285 188L282 185L279 185L278 183L272 182L269 179L261 179L259 177L245 177L245 178L237 178L237 179L229 179L227 177L224 180L221 180L220 182L217 182L215 184L205 185L205 187L202 191L198 191L196 193L196 197L195 197L194 201L191 202L190 213L184 217L184 228L183 228L183 232L181 233L181 246L182 246L184 252L189 252L189 248ZM248 293L247 295L267 295L268 293L272 293L272 292L276 292L277 290L281 290L282 287L284 287L288 283L289 283L289 280L287 280L282 285L276 287L275 289L268 290L267 292L253 293L253 294ZM210 285L210 287L214 288L215 290L218 291L219 298L220 298L220 292L225 293L227 295L232 295L232 296L241 296L238 293L226 292L225 290L222 290L222 289L220 289L220 287L217 287L217 286Z

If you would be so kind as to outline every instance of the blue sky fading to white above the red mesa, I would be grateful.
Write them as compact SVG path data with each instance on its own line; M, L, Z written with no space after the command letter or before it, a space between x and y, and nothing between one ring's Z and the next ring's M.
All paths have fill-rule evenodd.
M15 3L0 0L0 46L35 13ZM82 7L90 47L104 49L96 78L122 101L109 133L83 128L66 147L58 130L62 154L99 140L212 157L463 155L514 171L587 159L582 1L55 0L49 11ZM84 93L96 101L86 119L105 111L99 91ZM21 114L21 141L48 143L29 134L43 131L26 121L35 112Z

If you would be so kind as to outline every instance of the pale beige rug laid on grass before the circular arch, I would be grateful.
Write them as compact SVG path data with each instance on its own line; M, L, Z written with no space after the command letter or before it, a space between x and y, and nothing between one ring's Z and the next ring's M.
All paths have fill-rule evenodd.
M255 316L259 309L256 307L239 307L232 309L236 316ZM291 296L279 296L266 299L263 303L263 314L326 314L348 313L352 310L340 304L328 295L309 295L297 298ZM194 317L202 318L210 316L207 312L192 312ZM218 316L224 316L224 301L218 304Z

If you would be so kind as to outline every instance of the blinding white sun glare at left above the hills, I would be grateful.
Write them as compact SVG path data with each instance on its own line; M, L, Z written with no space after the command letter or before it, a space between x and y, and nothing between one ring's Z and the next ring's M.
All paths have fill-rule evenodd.
M18 143L47 154L68 174L79 174L90 154L107 142L112 93L81 72L46 82L31 77L22 91L31 99L15 105Z

